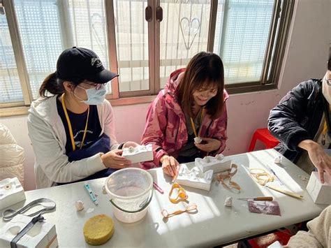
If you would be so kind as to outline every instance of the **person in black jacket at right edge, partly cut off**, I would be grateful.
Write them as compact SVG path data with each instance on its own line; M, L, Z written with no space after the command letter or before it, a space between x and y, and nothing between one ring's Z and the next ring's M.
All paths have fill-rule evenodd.
M275 149L321 182L331 175L331 57L323 79L309 79L294 87L270 111L268 129L280 143ZM330 150L331 151L331 150ZM330 153L331 154L331 153Z

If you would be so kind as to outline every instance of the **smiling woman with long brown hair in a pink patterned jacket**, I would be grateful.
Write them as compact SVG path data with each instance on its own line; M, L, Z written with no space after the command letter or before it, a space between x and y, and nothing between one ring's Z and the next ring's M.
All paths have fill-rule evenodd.
M153 145L154 161L142 166L162 164L163 172L174 176L179 163L223 152L227 99L223 63L212 52L196 54L187 68L171 73L147 110L141 143Z

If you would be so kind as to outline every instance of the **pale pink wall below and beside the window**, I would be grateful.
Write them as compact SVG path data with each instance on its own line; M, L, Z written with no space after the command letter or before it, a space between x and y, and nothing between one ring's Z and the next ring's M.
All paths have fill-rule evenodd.
M331 43L329 0L296 2L290 42L286 48L279 89L269 92L231 95L228 100L228 145L224 154L247 152L253 131L267 125L271 108L299 82L322 78ZM114 107L119 142L138 142L145 124L148 104ZM27 136L27 116L0 118L17 143L25 149L26 190L34 189L34 153Z

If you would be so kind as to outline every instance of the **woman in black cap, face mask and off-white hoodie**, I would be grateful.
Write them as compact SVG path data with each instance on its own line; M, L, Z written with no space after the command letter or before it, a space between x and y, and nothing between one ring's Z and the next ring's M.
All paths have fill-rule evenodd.
M110 175L131 165L120 156L105 84L117 77L85 48L64 50L57 71L45 78L31 103L29 137L36 156L37 188Z

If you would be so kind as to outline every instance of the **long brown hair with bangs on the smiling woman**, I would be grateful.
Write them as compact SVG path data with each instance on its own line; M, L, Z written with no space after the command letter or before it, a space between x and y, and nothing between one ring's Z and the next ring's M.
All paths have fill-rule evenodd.
M217 88L217 94L206 103L205 109L212 119L216 119L221 115L224 105L223 62L217 54L199 52L189 61L184 78L179 82L175 91L176 99L182 110L190 117L193 117L193 92L210 85Z

